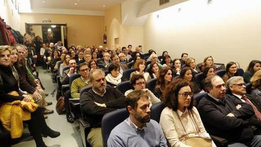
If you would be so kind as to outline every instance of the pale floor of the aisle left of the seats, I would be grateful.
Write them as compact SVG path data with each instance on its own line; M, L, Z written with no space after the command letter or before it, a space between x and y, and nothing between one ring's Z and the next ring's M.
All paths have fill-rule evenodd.
M46 97L47 102L52 102L53 104L47 106L47 109L54 110L53 114L49 114L46 119L47 125L56 131L61 132L61 136L58 138L43 138L45 144L50 147L82 147L82 140L79 132L78 121L74 124L70 124L66 121L66 115L58 115L55 111L56 99L51 96L52 90L56 87L56 83L52 83L50 73L47 73L46 70L38 67L37 71L39 72L39 78L41 79L44 87L45 93L49 93L49 96ZM35 147L34 140L23 141L13 145L12 147Z

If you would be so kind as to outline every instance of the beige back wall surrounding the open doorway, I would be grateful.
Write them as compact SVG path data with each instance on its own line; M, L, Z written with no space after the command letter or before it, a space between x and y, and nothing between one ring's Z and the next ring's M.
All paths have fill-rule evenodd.
M103 16L62 15L21 13L21 31L25 33L25 23L42 23L44 18L51 23L68 27L68 45L103 45Z

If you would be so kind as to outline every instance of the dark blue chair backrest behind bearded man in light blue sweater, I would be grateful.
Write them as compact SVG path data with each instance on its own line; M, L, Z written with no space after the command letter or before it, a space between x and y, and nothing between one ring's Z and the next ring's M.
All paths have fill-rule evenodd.
M125 108L106 113L101 121L101 134L104 147L107 147L107 141L114 127L129 117L129 113Z

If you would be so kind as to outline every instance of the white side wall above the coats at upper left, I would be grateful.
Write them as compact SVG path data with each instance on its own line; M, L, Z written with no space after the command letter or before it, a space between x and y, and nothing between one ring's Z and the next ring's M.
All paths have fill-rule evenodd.
M11 0L5 0L5 5L4 0L0 0L0 16L9 26L17 31L20 31L20 15L18 14L18 3L17 9L15 9L15 3L12 3Z

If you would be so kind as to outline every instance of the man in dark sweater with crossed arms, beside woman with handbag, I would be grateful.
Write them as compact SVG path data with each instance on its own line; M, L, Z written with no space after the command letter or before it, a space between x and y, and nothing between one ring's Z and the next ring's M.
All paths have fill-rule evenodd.
M217 75L207 77L205 87L208 94L199 101L198 112L207 132L232 141L229 147L261 146L261 136L254 135L249 125L252 107L225 96L225 83Z

